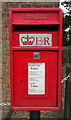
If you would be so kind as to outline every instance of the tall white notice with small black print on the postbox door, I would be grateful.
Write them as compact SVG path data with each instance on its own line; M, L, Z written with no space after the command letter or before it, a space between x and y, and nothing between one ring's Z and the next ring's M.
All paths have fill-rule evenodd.
M28 94L45 94L45 63L28 63Z

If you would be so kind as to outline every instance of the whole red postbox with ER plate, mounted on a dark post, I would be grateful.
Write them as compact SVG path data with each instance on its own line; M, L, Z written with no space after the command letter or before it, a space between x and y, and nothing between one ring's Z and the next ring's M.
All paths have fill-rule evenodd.
M12 8L9 15L11 108L59 110L62 11Z

